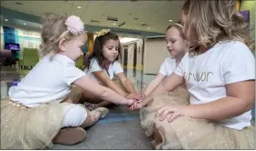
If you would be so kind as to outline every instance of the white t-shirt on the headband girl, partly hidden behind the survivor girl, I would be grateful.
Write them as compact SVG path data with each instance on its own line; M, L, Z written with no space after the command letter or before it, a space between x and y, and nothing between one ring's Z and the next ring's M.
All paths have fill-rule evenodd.
M165 76L170 76L176 70L176 59L166 57L161 65L159 73Z

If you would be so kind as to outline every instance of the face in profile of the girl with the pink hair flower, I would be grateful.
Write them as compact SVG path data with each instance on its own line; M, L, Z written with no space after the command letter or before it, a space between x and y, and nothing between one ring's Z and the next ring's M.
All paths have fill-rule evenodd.
M74 61L79 59L80 55L83 55L82 47L86 44L87 38L87 34L84 33L67 41L65 45L65 55Z

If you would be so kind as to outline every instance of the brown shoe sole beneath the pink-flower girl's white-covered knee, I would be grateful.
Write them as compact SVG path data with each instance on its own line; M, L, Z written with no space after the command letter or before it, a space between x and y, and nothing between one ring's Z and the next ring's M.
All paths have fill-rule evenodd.
M52 143L71 146L80 143L85 137L86 131L81 127L63 128L53 138Z

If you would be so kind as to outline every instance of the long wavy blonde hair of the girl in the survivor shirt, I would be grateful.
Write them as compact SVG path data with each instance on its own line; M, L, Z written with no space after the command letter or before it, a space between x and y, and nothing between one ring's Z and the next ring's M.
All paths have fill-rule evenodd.
M187 40L205 48L226 40L250 45L249 24L235 6L235 0L186 0L182 10L187 15L184 25Z

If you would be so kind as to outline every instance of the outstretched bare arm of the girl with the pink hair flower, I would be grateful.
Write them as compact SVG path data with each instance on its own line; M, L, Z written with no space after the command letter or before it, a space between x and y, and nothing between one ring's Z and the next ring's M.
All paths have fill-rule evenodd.
M134 100L127 99L123 96L116 94L112 89L101 86L91 80L88 76L81 76L79 79L73 82L74 85L80 86L84 91L87 91L93 95L100 96L101 99L112 102L113 104L130 106Z

